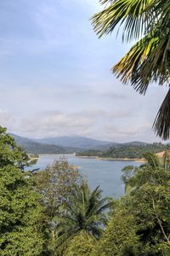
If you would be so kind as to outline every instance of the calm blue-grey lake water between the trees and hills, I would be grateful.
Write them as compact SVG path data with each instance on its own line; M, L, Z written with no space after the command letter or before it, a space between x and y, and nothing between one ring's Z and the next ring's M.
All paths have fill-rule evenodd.
M62 156L59 154L40 155L37 165L34 167L43 169ZM80 166L79 172L87 177L88 184L92 189L100 185L103 195L115 198L124 194L124 185L121 179L122 168L128 165L140 165L139 162L134 161L82 159L71 154L65 155L65 158L71 165Z

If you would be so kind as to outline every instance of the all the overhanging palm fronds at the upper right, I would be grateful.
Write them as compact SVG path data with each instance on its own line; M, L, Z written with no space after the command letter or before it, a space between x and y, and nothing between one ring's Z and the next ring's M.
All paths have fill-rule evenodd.
M170 1L100 0L106 7L92 18L99 38L123 26L122 40L139 41L127 52L112 72L124 84L145 94L151 82L170 80ZM143 36L143 38L141 38ZM170 131L170 90L161 104L153 125L156 135L167 139Z

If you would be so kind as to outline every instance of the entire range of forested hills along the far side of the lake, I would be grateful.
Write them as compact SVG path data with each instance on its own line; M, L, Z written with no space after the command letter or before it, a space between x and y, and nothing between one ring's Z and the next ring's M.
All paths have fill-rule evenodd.
M161 143L113 143L98 141L88 137L59 137L37 142L35 139L20 137L10 134L16 143L32 154L69 154L77 152L77 155L99 156L110 158L141 158L145 152L158 153L167 148ZM47 143L45 143L45 141ZM43 143L42 143L43 142ZM56 143L59 144L56 144ZM71 146L72 145L72 146Z

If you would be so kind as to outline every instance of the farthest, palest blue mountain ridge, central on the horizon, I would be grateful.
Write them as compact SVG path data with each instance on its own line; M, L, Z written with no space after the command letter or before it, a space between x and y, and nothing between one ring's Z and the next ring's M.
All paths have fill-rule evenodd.
M108 144L116 145L117 143L111 143L107 141L95 140L89 137L48 137L36 140L38 143L48 143L54 145L60 145L62 147L73 147L90 149L96 147L102 147Z

